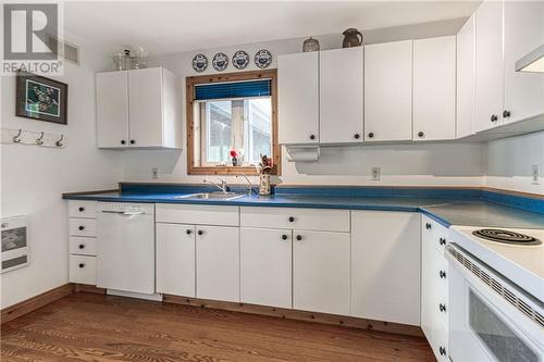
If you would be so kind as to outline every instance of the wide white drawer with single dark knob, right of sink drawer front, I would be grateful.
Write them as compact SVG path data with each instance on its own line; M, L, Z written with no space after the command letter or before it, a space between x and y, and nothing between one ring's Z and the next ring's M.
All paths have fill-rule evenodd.
M349 210L240 208L240 225L348 233Z

